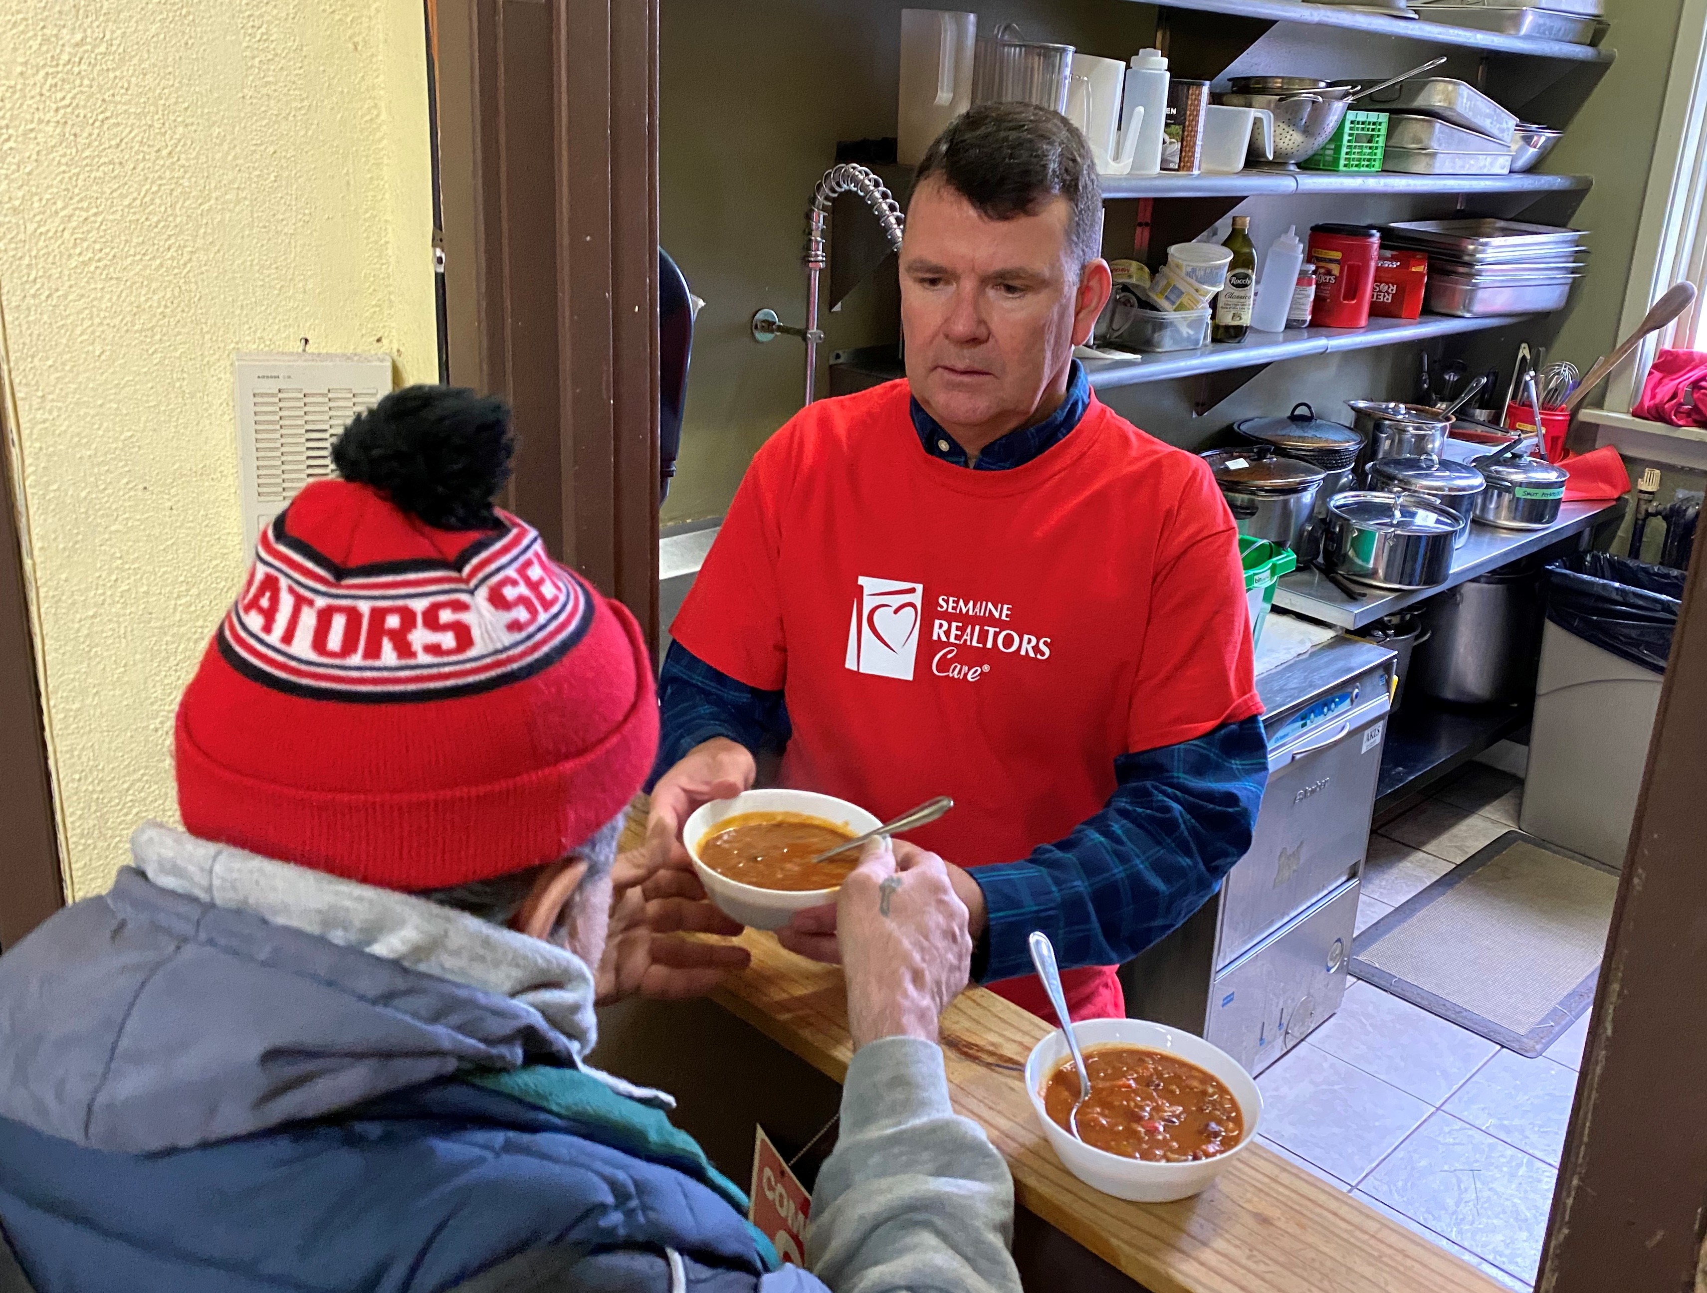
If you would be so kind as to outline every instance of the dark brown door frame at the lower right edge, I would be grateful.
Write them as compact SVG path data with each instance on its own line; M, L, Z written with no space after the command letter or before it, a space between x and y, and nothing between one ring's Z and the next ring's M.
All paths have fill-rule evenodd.
M1700 1288L1707 1221L1707 560L1690 563L1536 1293Z

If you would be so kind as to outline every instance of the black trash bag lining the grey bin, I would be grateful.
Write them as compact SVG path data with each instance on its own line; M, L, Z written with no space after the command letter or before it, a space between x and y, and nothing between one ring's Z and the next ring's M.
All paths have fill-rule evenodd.
M1572 553L1547 568L1547 618L1584 641L1666 672L1683 607L1683 571L1611 553Z

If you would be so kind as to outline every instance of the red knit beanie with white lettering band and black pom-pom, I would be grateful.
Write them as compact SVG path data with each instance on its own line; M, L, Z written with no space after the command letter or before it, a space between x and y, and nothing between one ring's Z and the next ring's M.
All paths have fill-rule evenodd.
M178 706L203 839L420 890L553 861L657 745L640 628L490 505L509 409L408 387L261 534Z

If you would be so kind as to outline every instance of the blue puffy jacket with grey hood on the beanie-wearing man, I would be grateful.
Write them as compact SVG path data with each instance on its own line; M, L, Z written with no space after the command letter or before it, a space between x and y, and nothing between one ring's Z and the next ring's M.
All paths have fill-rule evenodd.
M125 870L0 957L0 1228L38 1293L823 1290L570 1049Z

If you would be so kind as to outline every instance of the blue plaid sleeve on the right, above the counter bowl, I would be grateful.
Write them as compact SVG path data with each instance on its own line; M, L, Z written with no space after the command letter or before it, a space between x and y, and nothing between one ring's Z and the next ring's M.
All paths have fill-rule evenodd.
M1115 759L1108 805L1024 861L971 872L990 907L980 983L1031 974L1043 930L1062 969L1118 965L1185 923L1251 846L1268 780L1261 718Z

